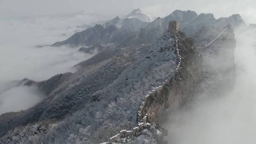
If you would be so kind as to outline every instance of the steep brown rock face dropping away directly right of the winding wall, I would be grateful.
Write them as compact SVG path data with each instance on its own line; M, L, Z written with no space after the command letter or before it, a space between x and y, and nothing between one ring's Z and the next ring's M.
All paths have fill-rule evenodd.
M193 98L194 90L200 82L201 57L195 51L193 40L186 38L183 33L177 32L176 53L180 62L173 78L163 82L146 96L143 106L138 112L138 121L145 116L149 123L159 123L163 120L166 109L179 108Z

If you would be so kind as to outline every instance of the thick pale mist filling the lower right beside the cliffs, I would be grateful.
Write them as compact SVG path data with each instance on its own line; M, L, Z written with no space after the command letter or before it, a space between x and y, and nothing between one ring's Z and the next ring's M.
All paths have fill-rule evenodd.
M253 144L256 133L256 29L237 29L236 85L170 116L169 144ZM219 63L221 64L221 63Z

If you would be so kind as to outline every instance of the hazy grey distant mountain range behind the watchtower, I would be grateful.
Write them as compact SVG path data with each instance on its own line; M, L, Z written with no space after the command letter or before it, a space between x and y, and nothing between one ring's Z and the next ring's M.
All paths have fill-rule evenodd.
M94 27L75 33L67 40L56 42L53 46L70 45L73 47L95 44L126 46L131 41L150 43L164 33L168 22L172 20L180 21L181 31L189 37L194 36L201 27L208 25L233 28L246 25L238 14L216 19L213 14L198 15L191 10L175 10L165 18L156 18L150 22L149 16L146 16L140 9L135 9L123 18L116 17L102 25L96 24ZM137 42L133 45L136 44Z

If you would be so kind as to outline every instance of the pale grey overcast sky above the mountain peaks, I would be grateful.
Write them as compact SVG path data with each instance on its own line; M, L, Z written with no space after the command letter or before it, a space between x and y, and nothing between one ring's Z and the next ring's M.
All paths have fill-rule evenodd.
M110 18L136 8L155 17L175 9L213 13L216 18L239 13L247 23L256 23L256 0L0 0L0 17L86 12Z

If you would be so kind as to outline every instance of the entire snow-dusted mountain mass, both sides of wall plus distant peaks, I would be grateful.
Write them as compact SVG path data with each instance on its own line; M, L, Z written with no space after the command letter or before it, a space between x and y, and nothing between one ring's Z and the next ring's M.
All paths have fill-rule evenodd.
M196 31L192 38L165 31L165 23L180 16L185 26L199 29L183 29ZM1 115L0 143L99 144L120 134L111 143L165 144L159 126L167 120L164 116L189 107L199 91L205 97L217 95L234 81L233 30L204 19L212 15L178 10L128 30L115 27L119 18L114 18L56 43L84 45L81 51L97 53L77 64L77 72L26 82L46 98L27 110ZM210 64L219 63L216 57L220 68L212 71Z

